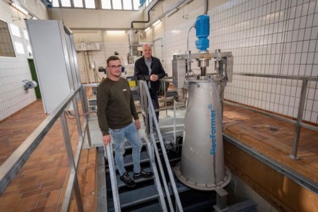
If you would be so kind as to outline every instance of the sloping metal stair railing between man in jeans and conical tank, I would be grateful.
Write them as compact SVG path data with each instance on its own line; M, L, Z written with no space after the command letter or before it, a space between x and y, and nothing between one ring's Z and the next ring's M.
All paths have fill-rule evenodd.
M153 154L151 154L151 160L154 161L156 159L156 161L158 162L158 167L159 167L159 171L160 171L160 177L163 179L163 187L165 190L165 196L167 197L167 202L169 204L169 208L170 211L183 211L182 208L182 204L181 201L179 199L179 193L177 191L177 186L175 184L175 178L173 176L171 167L170 167L170 163L169 163L169 159L167 157L167 152L165 150L165 143L163 142L163 137L161 136L160 133L160 128L159 128L159 124L157 121L157 118L155 117L155 110L153 108L153 104L151 101L151 95L149 93L149 89L148 89L148 85L146 83L146 81L139 81L139 90L140 90L140 102L141 102L141 110L143 113L143 116L145 117L145 122L146 122L146 134L150 135L150 140L151 140L151 152ZM149 120L149 122L148 122ZM165 178L165 172L163 170L163 165L161 164L161 160L160 160L160 155L159 155L159 151L158 151L158 147L156 145L156 140L155 140L155 136L153 134L153 124L155 126L155 131L158 135L158 140L160 143L160 148L161 148L161 152L163 154L163 158L164 158L164 163L165 166L167 167L167 174L170 180L170 186L172 189L172 194L175 196L175 207L172 204L172 200L170 197L170 192L169 192L169 187L167 185L167 179ZM154 158L155 156L155 158ZM164 201L164 200L160 200L160 201ZM162 204L162 206L164 207L165 204Z

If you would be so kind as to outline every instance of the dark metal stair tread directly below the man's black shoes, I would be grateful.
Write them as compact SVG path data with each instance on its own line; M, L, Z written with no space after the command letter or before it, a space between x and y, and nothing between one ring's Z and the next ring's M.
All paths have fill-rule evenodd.
M119 194L119 201L122 208L136 206L157 199L159 196L155 184L140 189L134 189L129 192Z

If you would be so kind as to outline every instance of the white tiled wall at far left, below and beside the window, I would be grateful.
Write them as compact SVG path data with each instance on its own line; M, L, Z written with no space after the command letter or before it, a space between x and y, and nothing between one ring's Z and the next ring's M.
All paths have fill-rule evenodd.
M14 23L13 23L14 24ZM0 120L10 116L36 100L34 89L24 90L23 80L32 81L28 65L28 40L23 28L20 36L11 36L13 43L23 44L25 54L16 52L16 57L0 57Z

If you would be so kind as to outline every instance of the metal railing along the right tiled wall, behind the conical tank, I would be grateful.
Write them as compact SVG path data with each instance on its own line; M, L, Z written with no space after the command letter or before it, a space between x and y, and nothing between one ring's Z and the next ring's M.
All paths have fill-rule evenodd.
M307 129L311 129L314 131L318 131L317 126L312 126L310 124L305 124L302 122L302 117L304 114L304 106L305 106L305 100L306 100L306 93L307 93L307 86L309 81L318 81L318 77L306 77L306 76L278 76L278 75L270 75L270 74L254 74L254 73L233 73L233 75L237 76L252 76L252 77L259 77L259 78L281 78L281 79L288 79L288 80L297 80L297 81L302 81L302 88L300 91L300 102L298 105L298 115L297 115L297 120L293 119L288 119L285 117L281 117L276 114L271 114L269 112L264 112L261 110L255 110L251 107L245 107L243 105L238 105L233 102L228 102L224 101L229 105L235 105L236 107L244 107L245 109L248 110L253 110L255 112L260 112L261 114L266 114L269 117L274 117L276 119L283 120L285 122L288 122L290 124L295 124L295 133L294 133L294 140L293 140L293 150L292 153L290 154L290 158L296 160L298 159L297 152L298 152L298 144L299 144L299 139L300 139L300 129L301 127L305 127Z

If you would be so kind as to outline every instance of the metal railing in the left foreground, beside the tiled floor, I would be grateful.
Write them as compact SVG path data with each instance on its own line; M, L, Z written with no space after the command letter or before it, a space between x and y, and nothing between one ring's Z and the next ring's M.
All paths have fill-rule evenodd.
M14 151L10 157L1 165L0 167L0 195L4 193L8 184L13 180L17 173L22 169L25 162L30 158L32 153L35 151L40 142L44 139L45 135L48 133L49 129L52 128L57 119L61 121L61 129L63 131L64 143L66 146L66 152L69 162L69 180L66 187L66 192L64 195L64 201L61 206L61 211L69 211L69 206L71 203L71 195L74 192L76 198L76 204L78 211L83 211L83 203L81 200L81 192L77 179L77 168L78 161L81 157L81 149L83 146L83 140L87 135L88 144L91 146L90 141L90 131L88 127L88 122L86 117L84 117L83 126L81 126L80 115L78 112L78 94L81 98L81 105L84 112L88 112L88 105L86 100L86 93L83 86L78 86L78 88L68 95L59 106L51 113L47 118L37 126L37 129L33 131L30 136L28 136L23 143ZM78 131L78 145L76 148L75 158L73 157L73 151L71 147L71 139L69 135L69 128L66 122L66 107L69 103L73 102L73 108L76 117L77 131Z

